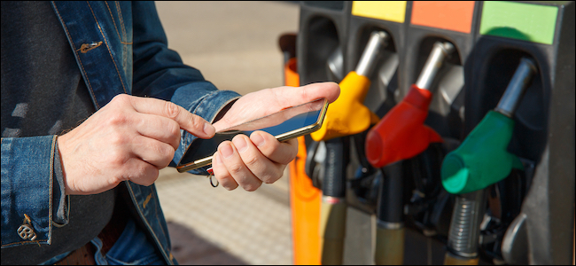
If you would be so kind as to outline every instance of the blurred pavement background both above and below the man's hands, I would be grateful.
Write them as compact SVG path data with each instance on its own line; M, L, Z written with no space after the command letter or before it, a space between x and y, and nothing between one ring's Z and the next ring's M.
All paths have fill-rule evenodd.
M168 47L220 90L282 86L278 37L297 33L297 2L156 2ZM156 182L181 264L292 264L288 171L255 192L213 188L164 168Z

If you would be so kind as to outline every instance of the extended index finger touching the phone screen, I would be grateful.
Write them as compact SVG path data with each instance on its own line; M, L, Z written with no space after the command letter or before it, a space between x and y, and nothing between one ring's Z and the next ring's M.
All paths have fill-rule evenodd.
M167 117L176 121L181 129L201 138L214 137L214 126L202 117L188 112L173 102L157 99L130 97L130 104L138 113L148 113Z

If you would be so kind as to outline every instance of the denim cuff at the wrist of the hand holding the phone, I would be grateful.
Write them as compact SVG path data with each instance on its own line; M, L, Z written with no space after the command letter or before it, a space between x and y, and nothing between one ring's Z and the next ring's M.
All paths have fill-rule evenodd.
M183 106L183 108L189 112L204 118L206 121L214 122L217 114L220 113L222 109L228 106L231 102L237 100L237 98L240 98L240 95L237 92L231 90L215 90L212 83L204 83L207 83L206 87L198 88L198 83L195 83L196 86L193 86L194 88L192 88L191 85L187 85L176 90L172 98L172 102L179 106ZM191 90L193 90L193 92L191 92ZM193 101L188 101L185 105L179 103L180 101L183 101L183 98L185 99L193 97L191 93L199 93L203 95L199 98L195 98ZM197 138L196 136L183 129L180 130L180 133L182 136L180 139L180 145L178 146L178 149L175 151L174 155L174 162L176 164L180 161L192 140ZM205 168L191 170L189 172L194 175L208 175Z

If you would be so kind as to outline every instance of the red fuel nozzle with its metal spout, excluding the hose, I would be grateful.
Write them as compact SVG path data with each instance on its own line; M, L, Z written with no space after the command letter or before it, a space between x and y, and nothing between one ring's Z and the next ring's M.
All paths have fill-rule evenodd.
M409 93L370 129L366 139L366 157L372 166L381 168L409 159L424 152L430 143L442 141L436 131L424 126L424 120L432 101L430 86L444 60L454 51L452 43L434 43Z

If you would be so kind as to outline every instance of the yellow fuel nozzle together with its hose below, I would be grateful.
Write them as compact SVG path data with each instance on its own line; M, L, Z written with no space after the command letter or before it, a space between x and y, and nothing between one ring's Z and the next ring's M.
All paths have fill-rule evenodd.
M315 141L324 141L323 200L320 216L322 264L341 264L346 231L346 165L348 138L378 122L378 116L362 104L370 89L369 75L388 35L375 31L362 52L355 71L339 83L340 96L326 112L323 126L313 132Z

